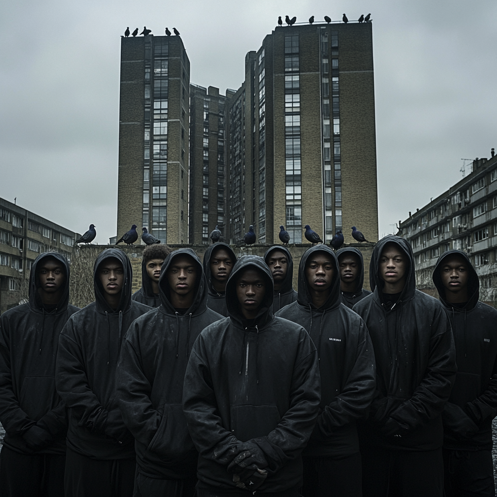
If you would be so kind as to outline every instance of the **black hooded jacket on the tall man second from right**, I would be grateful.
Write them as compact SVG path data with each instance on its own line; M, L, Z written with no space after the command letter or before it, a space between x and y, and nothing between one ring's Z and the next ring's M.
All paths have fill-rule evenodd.
M391 309L378 274L389 242L409 261L406 285ZM416 290L413 250L405 239L389 235L376 244L369 278L373 294L353 308L368 327L376 359L375 399L361 431L371 443L391 449L437 449L443 443L441 413L457 371L450 322L438 300Z

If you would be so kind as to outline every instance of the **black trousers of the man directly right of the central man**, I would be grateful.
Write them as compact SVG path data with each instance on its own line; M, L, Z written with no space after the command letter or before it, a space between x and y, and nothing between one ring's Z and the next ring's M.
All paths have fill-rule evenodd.
M361 454L342 459L304 457L304 497L361 497Z

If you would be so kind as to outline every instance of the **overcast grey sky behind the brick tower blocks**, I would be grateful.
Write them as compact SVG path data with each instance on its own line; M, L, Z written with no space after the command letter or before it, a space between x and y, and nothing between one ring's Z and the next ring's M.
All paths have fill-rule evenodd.
M116 235L120 35L176 27L191 82L237 89L278 15L371 12L380 236L497 148L497 2L4 1L0 197L68 229ZM360 228L360 227L358 227ZM121 235L121 234L120 234Z

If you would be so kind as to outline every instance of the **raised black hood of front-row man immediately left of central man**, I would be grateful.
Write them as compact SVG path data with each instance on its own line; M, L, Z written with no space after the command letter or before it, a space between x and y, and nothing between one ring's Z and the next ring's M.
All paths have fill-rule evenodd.
M187 311L187 314L200 314L207 308L207 282L205 280L202 264L197 254L191 248L179 248L171 252L164 261L161 268L161 278L159 279L159 294L161 296L162 308L166 314L174 316L176 313L170 301L171 289L167 281L167 269L172 263L172 260L178 255L189 255L195 261L197 266L197 279L195 282L196 290L193 302Z

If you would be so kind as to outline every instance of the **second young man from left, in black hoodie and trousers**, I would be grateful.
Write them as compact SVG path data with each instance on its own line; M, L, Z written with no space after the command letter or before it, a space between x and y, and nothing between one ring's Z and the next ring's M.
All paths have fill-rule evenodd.
M124 334L151 308L131 300L127 255L95 260L95 301L71 316L57 352L56 386L68 410L66 497L133 494L134 440L117 406L115 375Z

